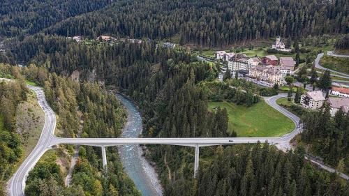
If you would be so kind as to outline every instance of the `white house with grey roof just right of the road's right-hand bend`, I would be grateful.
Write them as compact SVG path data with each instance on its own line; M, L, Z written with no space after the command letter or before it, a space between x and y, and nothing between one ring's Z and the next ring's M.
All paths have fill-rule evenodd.
M302 95L301 104L303 107L315 110L322 107L325 97L322 91L311 91Z

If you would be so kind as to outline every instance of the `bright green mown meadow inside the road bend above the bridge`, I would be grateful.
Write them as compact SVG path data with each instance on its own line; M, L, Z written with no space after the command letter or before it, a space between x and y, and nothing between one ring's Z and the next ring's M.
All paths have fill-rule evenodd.
M216 107L227 109L228 130L235 130L238 137L277 137L295 128L295 123L264 100L251 107L228 102L209 103L209 110Z

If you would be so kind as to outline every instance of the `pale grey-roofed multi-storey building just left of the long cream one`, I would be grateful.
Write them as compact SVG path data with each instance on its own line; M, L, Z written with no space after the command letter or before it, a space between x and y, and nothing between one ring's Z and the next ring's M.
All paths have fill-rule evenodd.
M228 61L228 69L233 73L239 70L250 70L251 66L253 66L253 60L245 54L235 54Z

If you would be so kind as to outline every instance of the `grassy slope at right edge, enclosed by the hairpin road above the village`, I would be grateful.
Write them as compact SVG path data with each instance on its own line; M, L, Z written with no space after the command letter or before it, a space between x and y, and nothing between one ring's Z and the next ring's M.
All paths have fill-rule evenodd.
M324 68L349 74L349 58L324 55L320 60L320 65Z

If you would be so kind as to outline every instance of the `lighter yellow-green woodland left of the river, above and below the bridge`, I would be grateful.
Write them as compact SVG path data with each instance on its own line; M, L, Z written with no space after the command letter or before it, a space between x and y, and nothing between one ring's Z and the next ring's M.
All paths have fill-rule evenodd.
M73 82L55 73L47 72L46 68L31 65L19 69L3 65L6 75L31 80L44 87L47 102L59 116L57 121L58 134L62 137L118 137L126 119L126 111L117 98L105 91L96 83ZM22 76L22 75L23 76ZM4 127L8 130L14 125L13 110L17 103L25 96L25 91L20 91L20 83L14 82L0 84L1 113L9 114L4 119ZM25 83L23 83L25 85ZM24 86L25 88L25 86ZM25 89L27 91L27 89ZM11 96L11 97L8 97ZM8 100L9 99L9 100ZM12 111L12 113L10 112ZM10 113L8 113L10 112ZM0 115L2 117L2 115ZM5 116L5 115L4 115ZM21 155L21 147L17 134L1 131L1 142L6 153L1 153L1 172L10 172L11 163ZM17 137L16 137L17 135ZM17 141L19 140L19 141ZM8 144L8 146L4 146ZM10 149L13 149L12 153ZM81 146L79 160L73 171L72 187L64 185L64 174L57 165L57 157L64 156L72 151L73 146L62 146L58 154L40 160L38 165L29 173L26 195L140 195L133 182L123 171L119 161L117 148L108 149L108 172L104 172L101 163L101 149L91 146ZM20 153L17 156L17 153ZM2 171L4 169L4 171ZM101 175L101 173L103 175ZM6 177L5 174L1 176Z

